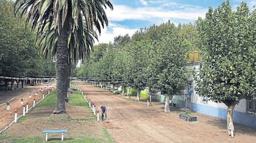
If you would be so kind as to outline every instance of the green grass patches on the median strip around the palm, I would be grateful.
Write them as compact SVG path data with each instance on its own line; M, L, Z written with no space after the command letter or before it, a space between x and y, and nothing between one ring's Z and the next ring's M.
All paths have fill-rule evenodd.
M74 89L73 89L74 90ZM44 106L55 106L56 101L56 90L54 90L50 95L48 95L43 101L41 101L33 110L37 110L37 107L44 107ZM88 111L92 111L87 102L85 102L84 97L79 93L79 91L74 90L73 93L69 94L69 104L74 106L82 106L85 107ZM23 116L18 120L18 123L21 123L27 119L32 118L40 118L37 116ZM91 113L85 116L83 119L86 122L95 122L95 124L98 124L96 122L96 117ZM22 124L20 124L22 125ZM12 131L12 127L10 127L8 130L4 131L4 133L0 136L0 143L1 142L13 142L13 143L27 143L27 142L42 142L45 139L44 135L41 136L33 136L33 137L16 137L16 136L10 136L9 132ZM102 131L104 133L104 136L101 136L101 138L91 138L91 136L68 136L64 135L64 141L60 141L60 137L58 134L51 134L49 135L49 141L48 142L74 142L74 143L80 143L80 142L113 142L113 139L108 134L108 131L106 128L102 127ZM89 134L90 135L90 134Z

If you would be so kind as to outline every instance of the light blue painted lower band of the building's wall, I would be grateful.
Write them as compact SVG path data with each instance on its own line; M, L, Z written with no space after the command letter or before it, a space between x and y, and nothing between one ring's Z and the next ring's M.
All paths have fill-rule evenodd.
M227 110L224 108L210 107L202 104L191 104L191 110L220 119L227 119ZM233 122L256 128L256 116L239 111L233 112Z

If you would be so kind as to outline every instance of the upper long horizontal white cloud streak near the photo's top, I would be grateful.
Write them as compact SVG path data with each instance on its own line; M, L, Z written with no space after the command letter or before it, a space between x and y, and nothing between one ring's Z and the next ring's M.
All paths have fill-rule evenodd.
M205 12L207 12L207 8L183 7L177 10L166 10L161 7L132 8L126 5L115 5L113 11L107 10L107 16L110 21L124 21L126 19L152 21L171 18L196 20L199 16L204 17Z

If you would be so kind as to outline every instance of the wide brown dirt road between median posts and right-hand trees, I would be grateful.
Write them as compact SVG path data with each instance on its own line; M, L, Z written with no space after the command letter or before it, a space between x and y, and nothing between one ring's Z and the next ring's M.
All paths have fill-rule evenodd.
M180 111L163 113L163 104L147 107L82 81L77 84L96 108L107 106L110 122L103 124L115 142L256 142L256 128L235 124L235 138L230 138L226 121L218 118L195 113L198 121L187 122L179 119Z

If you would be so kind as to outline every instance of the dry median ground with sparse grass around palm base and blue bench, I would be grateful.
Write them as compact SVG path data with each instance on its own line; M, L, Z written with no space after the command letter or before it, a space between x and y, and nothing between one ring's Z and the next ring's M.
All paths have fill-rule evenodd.
M83 101L82 96L79 96L82 99L80 101ZM69 95L69 98L74 98L74 95ZM83 102L84 105L85 101ZM69 103L65 106L66 115L52 114L55 105L32 108L24 118L2 133L0 142L44 142L43 130L64 129L68 130L64 135L64 142L113 142L107 130L96 121L96 116L89 107ZM51 134L48 137L50 142L60 142L60 139L60 134Z

